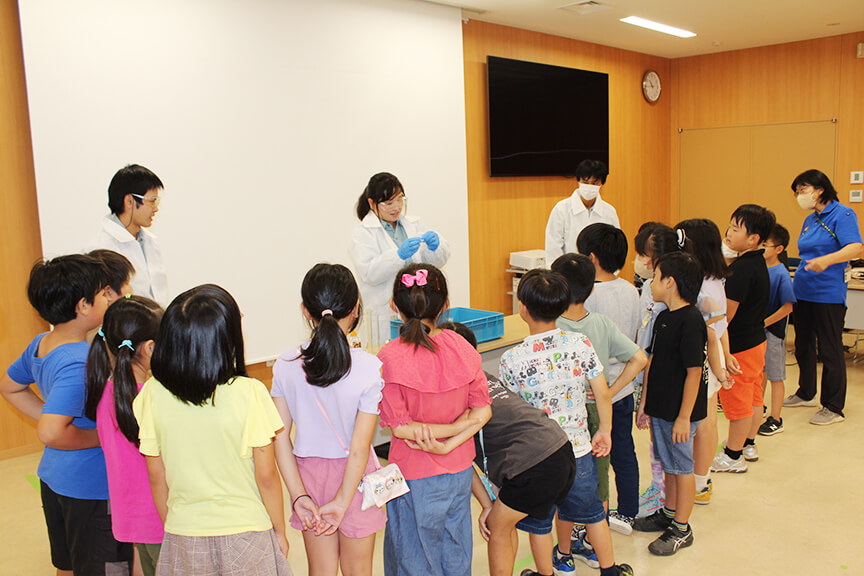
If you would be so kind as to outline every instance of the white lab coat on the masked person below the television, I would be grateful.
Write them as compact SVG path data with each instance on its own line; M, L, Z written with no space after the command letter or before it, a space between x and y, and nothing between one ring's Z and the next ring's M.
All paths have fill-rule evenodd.
M577 252L576 238L579 233L589 224L597 222L621 227L615 207L599 195L591 210L582 203L578 188L569 198L558 202L546 223L546 267L551 267L552 262L563 254Z

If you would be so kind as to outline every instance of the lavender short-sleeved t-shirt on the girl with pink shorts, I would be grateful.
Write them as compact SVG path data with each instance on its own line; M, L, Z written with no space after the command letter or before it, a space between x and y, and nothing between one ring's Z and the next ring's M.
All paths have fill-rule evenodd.
M270 394L274 398L285 398L291 411L296 426L295 456L345 458L348 454L343 445L351 446L357 412L378 414L382 388L381 361L368 352L352 348L348 374L338 382L321 387L306 382L300 350L292 348L273 365ZM330 423L321 412L322 408Z

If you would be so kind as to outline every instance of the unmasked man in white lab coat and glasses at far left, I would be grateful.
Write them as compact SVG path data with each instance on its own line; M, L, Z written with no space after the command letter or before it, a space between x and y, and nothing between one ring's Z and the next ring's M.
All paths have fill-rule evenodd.
M108 185L111 213L87 251L97 248L124 255L135 267L132 292L168 305L168 282L156 236L148 230L159 212L162 181L143 166L130 164L114 174Z

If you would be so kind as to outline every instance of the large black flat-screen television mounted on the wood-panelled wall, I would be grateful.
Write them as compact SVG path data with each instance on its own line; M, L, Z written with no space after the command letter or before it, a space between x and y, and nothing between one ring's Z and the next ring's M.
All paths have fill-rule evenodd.
M573 176L609 165L609 75L487 57L491 176Z

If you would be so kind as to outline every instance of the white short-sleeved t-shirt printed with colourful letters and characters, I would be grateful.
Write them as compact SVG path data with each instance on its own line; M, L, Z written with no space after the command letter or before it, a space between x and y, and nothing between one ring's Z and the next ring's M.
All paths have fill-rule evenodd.
M585 387L603 365L584 334L555 329L526 338L501 355L500 379L558 423L580 458L591 452Z

